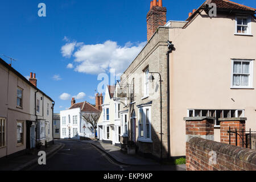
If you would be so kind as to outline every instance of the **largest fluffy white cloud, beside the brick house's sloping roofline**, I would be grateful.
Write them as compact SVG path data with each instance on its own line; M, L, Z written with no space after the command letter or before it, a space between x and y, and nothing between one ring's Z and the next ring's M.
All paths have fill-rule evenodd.
M145 45L146 42L127 42L122 47L118 46L117 42L108 40L105 43L93 45L79 43L68 46L66 44L66 47L63 46L65 48L62 47L61 50L68 49L67 52L63 51L63 56L70 57L75 51L75 47L78 47L73 53L75 62L78 63L75 68L77 72L97 75L115 69L115 73L118 75L125 71Z

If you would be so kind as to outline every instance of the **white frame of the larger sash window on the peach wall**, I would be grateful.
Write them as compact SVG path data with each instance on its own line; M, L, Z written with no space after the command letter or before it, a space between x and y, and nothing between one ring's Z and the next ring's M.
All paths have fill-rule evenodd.
M250 63L249 64L249 81L248 81L248 83L249 83L249 85L248 86L234 86L233 85L233 80L234 80L234 74L236 74L236 73L234 73L234 62L241 62L241 64L242 63ZM232 59L232 67L231 67L231 73L232 73L232 75L231 75L231 86L230 86L230 88L231 89L253 89L253 68L254 68L254 60L250 60L250 59ZM240 73L238 73L238 74L236 74L236 75L243 75L242 73L240 74Z

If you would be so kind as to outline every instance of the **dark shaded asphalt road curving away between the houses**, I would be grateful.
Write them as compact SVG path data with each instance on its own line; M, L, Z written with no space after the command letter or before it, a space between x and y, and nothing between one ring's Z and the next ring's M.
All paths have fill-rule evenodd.
M89 143L58 141L65 146L46 159L46 165L35 165L28 171L177 171L177 166L125 166L114 162Z

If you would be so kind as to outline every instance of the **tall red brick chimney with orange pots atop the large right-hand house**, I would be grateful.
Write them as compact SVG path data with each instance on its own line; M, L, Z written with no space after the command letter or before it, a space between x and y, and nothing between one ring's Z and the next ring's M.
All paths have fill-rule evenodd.
M151 39L159 26L166 24L166 13L167 9L163 7L162 0L150 2L150 11L147 13L147 41Z

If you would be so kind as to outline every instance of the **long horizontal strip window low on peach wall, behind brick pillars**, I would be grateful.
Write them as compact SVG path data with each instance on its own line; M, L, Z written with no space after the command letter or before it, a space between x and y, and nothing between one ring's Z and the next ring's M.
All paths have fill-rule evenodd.
M219 127L219 118L240 118L244 117L245 110L242 109L212 109L212 110L200 110L200 109L189 109L188 117L214 117L214 126Z

